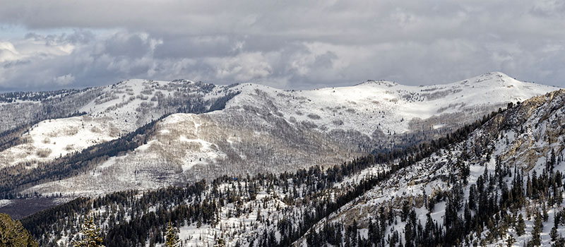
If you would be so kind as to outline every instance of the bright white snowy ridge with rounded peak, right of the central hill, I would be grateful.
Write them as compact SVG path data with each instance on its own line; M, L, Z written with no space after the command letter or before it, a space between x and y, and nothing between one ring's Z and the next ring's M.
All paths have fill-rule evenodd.
M323 132L355 130L365 135L427 131L474 121L509 102L519 102L557 90L524 83L504 73L486 73L446 85L407 86L368 81L352 87L284 91L243 84L227 107L264 104L266 94L290 122L313 124ZM463 115L458 115L463 113ZM424 119L443 116L427 123ZM456 119L453 119L455 118Z

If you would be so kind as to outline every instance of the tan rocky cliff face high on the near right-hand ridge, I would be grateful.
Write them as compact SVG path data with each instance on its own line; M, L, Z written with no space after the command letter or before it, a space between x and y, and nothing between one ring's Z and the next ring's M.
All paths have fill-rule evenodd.
M564 149L564 104L565 90L533 97L489 121L468 145L494 141L502 164L530 171Z

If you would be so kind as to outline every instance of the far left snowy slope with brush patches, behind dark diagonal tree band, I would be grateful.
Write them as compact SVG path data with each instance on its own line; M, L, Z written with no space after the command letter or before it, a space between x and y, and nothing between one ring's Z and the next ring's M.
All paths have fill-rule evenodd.
M165 114L178 112L179 107L196 105L196 109L184 111L206 112L214 100L232 92L228 87L215 88L214 85L189 80L126 80L85 92L91 91L98 96L89 96L93 100L82 107L79 105L80 108L75 111L86 115L49 119L35 124L20 137L22 144L0 152L0 167L22 162L32 165L80 152L86 147L135 131ZM57 98L48 97L47 100ZM5 104L17 108L21 102L16 100ZM40 105L35 102L29 104Z

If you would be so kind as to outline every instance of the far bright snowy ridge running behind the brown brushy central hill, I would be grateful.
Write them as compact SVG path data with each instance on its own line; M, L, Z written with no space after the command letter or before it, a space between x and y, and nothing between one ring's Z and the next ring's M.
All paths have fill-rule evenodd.
M126 80L90 90L97 92L98 96L77 109L78 112L86 112L93 122L104 123L96 126L100 130L97 132L112 133L112 138L108 134L105 137L86 132L67 135L59 131L56 134L61 139L57 144L59 147L47 147L45 143L42 144L45 137L39 134L43 131L39 128L30 132L28 140L32 141L4 150L0 152L0 157L7 165L52 160L71 151L80 151L89 143L93 145L135 131L153 119L178 112L179 107L186 105L184 102L201 102L205 110L210 106L206 102L233 92L241 93L227 102L225 111L213 113L217 116L215 119L237 118L236 115L249 111L250 107L268 109L268 114L280 116L295 128L326 133L340 145L364 145L363 150L370 151L375 143L384 140L383 135L390 138L395 133L454 128L505 107L508 102L522 101L552 90L556 88L523 83L503 73L487 73L447 85L415 87L387 81L368 81L352 87L301 91L247 83L214 86L190 80ZM40 126L49 121L43 121ZM251 126L237 127L254 128L261 121L248 122ZM83 123L74 118L58 119L57 124L64 128L83 128ZM50 135L49 138L53 138L55 134ZM92 138L97 142L86 141ZM361 143L367 140L368 144ZM78 142L78 148L64 149L75 141ZM51 151L46 157L38 157L38 150Z

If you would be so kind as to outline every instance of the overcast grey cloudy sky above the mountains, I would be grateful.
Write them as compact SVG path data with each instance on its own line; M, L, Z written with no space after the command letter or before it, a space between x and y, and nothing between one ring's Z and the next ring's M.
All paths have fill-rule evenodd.
M0 90L128 78L428 85L489 71L565 87L562 0L0 4Z

